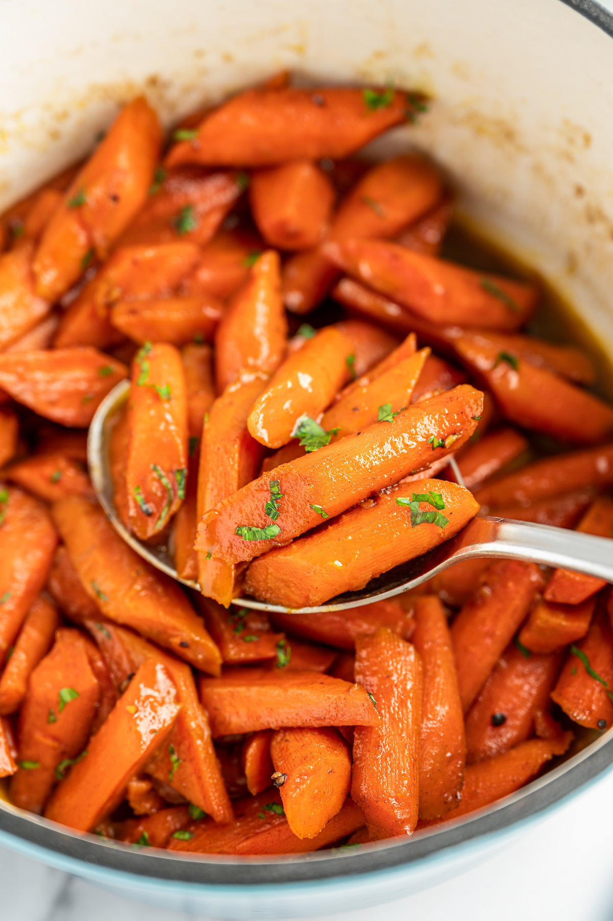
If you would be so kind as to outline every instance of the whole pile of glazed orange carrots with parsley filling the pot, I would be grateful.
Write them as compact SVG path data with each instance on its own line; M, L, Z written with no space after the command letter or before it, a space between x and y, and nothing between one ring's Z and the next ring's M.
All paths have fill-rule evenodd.
M142 847L306 853L457 819L612 725L593 577L477 560L340 612L241 607L360 589L479 507L613 533L589 358L521 332L534 282L441 257L453 195L429 161L355 156L425 108L281 75L163 147L136 99L0 216L14 806ZM117 514L201 594L89 482L88 425L128 378Z

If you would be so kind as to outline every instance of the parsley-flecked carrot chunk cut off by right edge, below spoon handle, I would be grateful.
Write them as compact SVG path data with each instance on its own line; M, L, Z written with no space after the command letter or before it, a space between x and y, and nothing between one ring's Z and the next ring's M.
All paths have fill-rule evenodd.
M572 645L551 700L580 726L609 729L613 723L613 633L604 612Z

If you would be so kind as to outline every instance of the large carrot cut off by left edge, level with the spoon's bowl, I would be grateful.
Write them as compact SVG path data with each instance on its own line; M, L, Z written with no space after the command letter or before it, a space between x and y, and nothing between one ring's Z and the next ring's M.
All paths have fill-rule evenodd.
M46 508L0 485L0 663L44 584L56 543Z

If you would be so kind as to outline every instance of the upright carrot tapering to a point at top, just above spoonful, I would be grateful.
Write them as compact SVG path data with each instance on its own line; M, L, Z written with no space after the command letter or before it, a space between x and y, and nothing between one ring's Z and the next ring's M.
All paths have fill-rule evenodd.
M267 250L253 263L249 280L230 301L215 333L218 392L233 384L243 368L275 371L285 355L287 334L279 257Z

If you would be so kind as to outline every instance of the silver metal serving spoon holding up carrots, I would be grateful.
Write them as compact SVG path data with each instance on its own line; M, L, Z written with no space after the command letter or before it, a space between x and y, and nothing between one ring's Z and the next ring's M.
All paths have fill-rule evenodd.
M160 569L191 589L199 590L192 579L180 578L172 565L168 547L151 547L140 542L124 528L117 517L112 501L112 477L109 463L109 439L118 414L127 401L130 383L123 380L100 403L89 426L88 466L94 491L101 507L106 512L113 528L124 541L140 554L147 563ZM456 475L457 466L454 465ZM458 477L459 479L459 477ZM544 524L528 521L480 516L472 519L463 530L450 541L440 544L428 554L408 560L395 566L382 576L371 579L366 588L347 592L329 600L326 604L307 608L286 608L280 604L266 604L253 598L240 598L232 603L258 611L306 614L326 611L342 611L355 608L371 601L393 598L407 589L415 589L422 582L436 576L448 566L463 560L481 557L524 560L548 566L563 566L588 576L613 582L613 553L607 538L593 537L576 530L551 528Z

